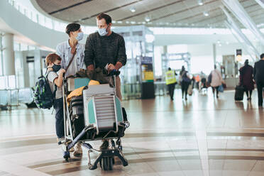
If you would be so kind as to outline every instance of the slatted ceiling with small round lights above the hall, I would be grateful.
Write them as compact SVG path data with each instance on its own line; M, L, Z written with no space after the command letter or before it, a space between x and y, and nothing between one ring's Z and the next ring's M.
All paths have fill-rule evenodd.
M63 21L95 26L99 13L114 26L225 28L221 0L31 0L36 9ZM255 0L239 0L256 25L264 23L264 9ZM131 10L136 10L132 12ZM209 16L206 16L207 13ZM240 23L243 28L242 24ZM264 27L262 25L262 27Z

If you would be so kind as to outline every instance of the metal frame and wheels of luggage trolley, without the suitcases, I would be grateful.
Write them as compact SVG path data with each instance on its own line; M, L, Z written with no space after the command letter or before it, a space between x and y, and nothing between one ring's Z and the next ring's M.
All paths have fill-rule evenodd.
M117 98L116 90L115 90L116 75L111 75L111 76L114 78L113 79L114 80L114 92L113 92L114 94L94 94L92 97L90 97L90 99L95 99L100 96L106 96L110 98L113 97L114 100ZM101 85L104 85L104 84L101 84ZM73 133L72 133L72 121L70 117L70 109L69 109L69 106L67 106L67 93L68 93L67 87L68 87L67 79L64 79L63 84L62 84L62 96L63 96L65 141L62 141L59 144L62 145L62 148L65 152L65 155L64 155L65 160L68 161L70 158L70 148L72 148L77 142L79 142L79 143L82 143L82 146L88 150L88 166L90 170L96 169L98 163L100 163L100 166L103 170L112 170L113 165L114 165L114 156L117 156L121 160L121 163L123 164L123 166L128 165L128 161L123 155L122 145L121 145L121 137L123 137L124 131L128 126L126 125L126 123L118 121L118 117L116 116L116 104L114 103L115 116L116 116L114 130L110 129L109 131L106 131L106 133L103 133L103 135L100 136L101 130L98 126L97 121L95 124L86 123L85 127L82 129L79 135L77 135L74 138ZM96 111L96 109L94 109L94 111ZM95 116L96 115L97 114L95 113ZM87 133L93 133L93 137L85 138ZM111 136L110 136L110 133L112 134ZM88 143L89 141L98 141L98 140L108 140L110 142L110 148L106 150L97 150ZM94 163L91 162L90 153L97 153L98 155Z

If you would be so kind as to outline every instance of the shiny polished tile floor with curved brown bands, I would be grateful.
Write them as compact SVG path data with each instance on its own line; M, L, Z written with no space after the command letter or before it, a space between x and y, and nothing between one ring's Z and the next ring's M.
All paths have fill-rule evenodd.
M214 99L194 91L123 101L131 126L122 138L128 166L88 170L82 158L62 159L51 111L0 111L0 175L264 175L264 110L253 99L233 101L229 90ZM99 146L101 141L92 142Z

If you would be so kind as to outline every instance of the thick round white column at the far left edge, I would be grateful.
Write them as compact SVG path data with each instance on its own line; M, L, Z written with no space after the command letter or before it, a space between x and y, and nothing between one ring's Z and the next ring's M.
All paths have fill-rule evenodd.
M3 70L4 75L16 75L15 72L15 54L13 51L13 34L4 33L3 35Z

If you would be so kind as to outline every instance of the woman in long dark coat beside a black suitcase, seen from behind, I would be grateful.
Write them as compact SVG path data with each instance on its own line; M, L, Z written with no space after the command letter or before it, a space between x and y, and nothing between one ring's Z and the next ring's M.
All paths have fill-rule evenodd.
M248 60L245 61L245 65L239 69L240 85L243 85L246 97L251 100L251 94L254 89L253 82L253 67L248 65Z

